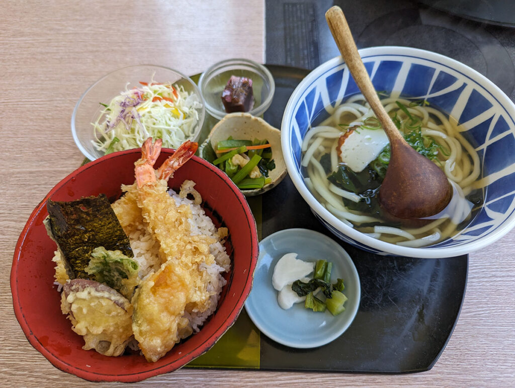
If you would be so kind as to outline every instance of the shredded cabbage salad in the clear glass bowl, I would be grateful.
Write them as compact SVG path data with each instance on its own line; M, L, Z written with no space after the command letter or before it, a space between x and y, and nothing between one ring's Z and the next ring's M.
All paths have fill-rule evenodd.
M171 83L140 82L141 87L128 89L114 97L94 126L93 144L109 154L141 147L152 137L162 139L163 147L177 148L193 137L199 120L198 96Z

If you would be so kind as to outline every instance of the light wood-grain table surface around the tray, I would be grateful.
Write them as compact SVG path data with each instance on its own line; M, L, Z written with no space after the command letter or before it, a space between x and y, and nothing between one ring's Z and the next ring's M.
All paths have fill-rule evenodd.
M83 160L70 132L77 99L102 75L131 64L193 75L226 58L263 62L264 7L263 0L0 2L0 385L93 385L61 372L30 346L9 285L14 246L29 214ZM461 315L428 372L181 369L131 386L513 386L514 245L515 231L470 255Z

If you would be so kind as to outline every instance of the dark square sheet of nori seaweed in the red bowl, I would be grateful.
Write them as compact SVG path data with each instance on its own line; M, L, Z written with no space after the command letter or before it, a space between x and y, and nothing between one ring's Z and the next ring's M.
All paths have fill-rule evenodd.
M105 194L73 201L46 203L47 231L57 243L71 279L92 279L85 272L93 249L103 246L134 257L129 238L120 225Z

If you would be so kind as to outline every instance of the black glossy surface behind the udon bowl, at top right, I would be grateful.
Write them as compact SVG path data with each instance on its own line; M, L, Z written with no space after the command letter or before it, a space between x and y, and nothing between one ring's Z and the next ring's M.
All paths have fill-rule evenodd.
M456 59L483 74L515 101L515 29L460 18L482 3L485 20L511 20L510 0L267 0L266 63L314 69L339 55L325 11L344 11L358 48L409 46ZM509 4L508 4L509 3ZM452 7L451 7L452 6ZM437 8L435 8L437 7ZM439 8L451 9L452 13ZM499 23L494 21L495 23ZM318 45L318 47L312 47ZM310 47L310 49L306 49Z

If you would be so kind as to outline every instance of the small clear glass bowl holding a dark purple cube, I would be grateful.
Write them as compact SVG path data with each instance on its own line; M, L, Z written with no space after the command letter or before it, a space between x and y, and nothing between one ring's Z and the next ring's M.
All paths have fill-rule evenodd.
M252 79L254 104L248 113L261 116L270 107L276 84L270 71L262 64L249 59L227 59L212 65L198 81L207 112L220 120L227 112L221 95L231 76Z

